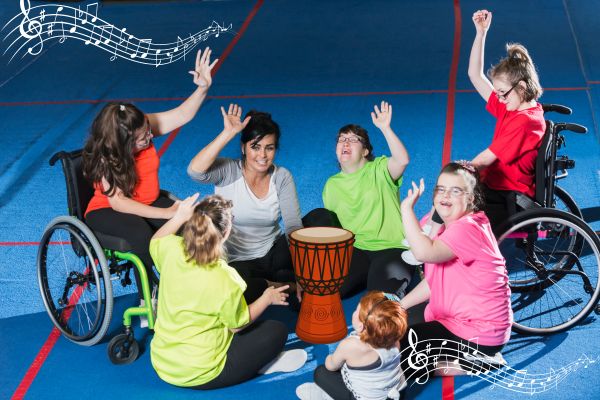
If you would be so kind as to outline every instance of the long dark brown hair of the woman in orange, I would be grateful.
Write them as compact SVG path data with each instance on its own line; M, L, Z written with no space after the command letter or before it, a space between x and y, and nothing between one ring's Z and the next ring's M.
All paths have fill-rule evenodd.
M145 123L144 113L127 103L109 103L94 119L83 148L83 175L92 183L106 179L105 195L112 196L117 188L133 195L135 131Z

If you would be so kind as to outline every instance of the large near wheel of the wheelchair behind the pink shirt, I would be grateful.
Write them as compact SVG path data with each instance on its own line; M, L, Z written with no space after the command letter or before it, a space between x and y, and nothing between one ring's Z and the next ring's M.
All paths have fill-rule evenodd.
M585 319L600 296L598 236L579 218L554 209L526 210L509 222L498 245L512 291L513 329L550 334Z

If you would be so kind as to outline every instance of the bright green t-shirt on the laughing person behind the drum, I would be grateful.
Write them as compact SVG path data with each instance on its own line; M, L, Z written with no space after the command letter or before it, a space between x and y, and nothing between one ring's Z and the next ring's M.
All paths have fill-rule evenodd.
M360 170L340 172L325 183L323 204L354 233L358 249L406 248L398 195L402 177L392 180L387 164L387 157L377 157Z

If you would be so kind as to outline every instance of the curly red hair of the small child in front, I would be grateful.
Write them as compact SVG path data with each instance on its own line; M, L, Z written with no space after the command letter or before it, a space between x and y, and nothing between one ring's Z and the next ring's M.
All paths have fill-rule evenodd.
M408 329L406 310L388 300L381 291L371 291L360 299L358 319L364 329L360 340L376 348L390 349Z

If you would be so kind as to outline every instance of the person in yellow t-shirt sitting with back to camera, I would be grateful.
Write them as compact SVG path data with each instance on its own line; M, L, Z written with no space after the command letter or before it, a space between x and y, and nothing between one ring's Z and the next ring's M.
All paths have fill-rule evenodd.
M287 286L267 288L248 306L243 296L246 283L222 258L231 231L231 201L209 196L196 206L197 198L196 194L181 202L150 241L150 254L160 271L152 366L164 381L195 389L231 386L261 372L299 368L306 353L298 350L273 363L285 345L286 326L279 321L253 322L268 306L288 304ZM183 238L175 235L182 226Z

